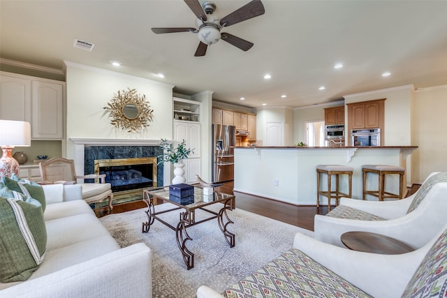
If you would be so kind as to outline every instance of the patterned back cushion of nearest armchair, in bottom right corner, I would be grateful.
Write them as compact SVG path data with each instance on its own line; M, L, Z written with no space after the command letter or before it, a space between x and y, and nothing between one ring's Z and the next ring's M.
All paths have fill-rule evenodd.
M447 297L447 230L425 255L402 297Z

